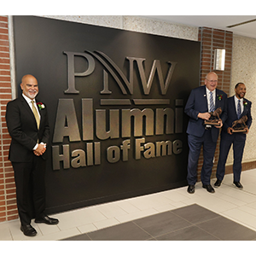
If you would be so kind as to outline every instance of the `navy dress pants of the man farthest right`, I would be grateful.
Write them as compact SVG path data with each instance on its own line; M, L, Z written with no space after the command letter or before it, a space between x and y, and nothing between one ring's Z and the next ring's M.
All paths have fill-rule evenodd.
M228 158L230 147L233 143L233 173L234 173L234 182L240 182L241 178L241 159L243 154L243 149L245 146L245 137L241 137L241 134L225 134L224 137L221 137L220 146L219 146L219 157L218 157L218 166L216 177L219 180L223 180L225 174L225 164Z

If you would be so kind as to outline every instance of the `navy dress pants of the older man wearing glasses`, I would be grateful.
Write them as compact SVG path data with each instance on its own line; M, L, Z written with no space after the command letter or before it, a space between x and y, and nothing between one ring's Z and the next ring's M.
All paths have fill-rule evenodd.
M197 163L203 146L203 166L201 168L201 183L204 185L210 184L213 158L217 142L212 141L211 130L206 130L202 137L188 135L189 143L189 161L188 161L188 176L189 185L195 185L197 180Z

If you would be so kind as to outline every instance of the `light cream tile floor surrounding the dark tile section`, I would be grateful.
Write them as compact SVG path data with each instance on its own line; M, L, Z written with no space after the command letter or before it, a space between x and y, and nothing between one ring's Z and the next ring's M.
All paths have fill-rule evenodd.
M27 237L20 232L18 219L4 222L0 224L0 241L58 241L118 224L127 225L128 229L128 224L131 221L139 226L140 218L150 216L153 218L158 213L171 217L173 210L179 211L179 208L192 207L195 204L208 209L212 214L217 213L218 218L228 218L256 231L256 169L242 172L241 183L244 186L242 190L236 189L232 185L232 179L232 174L226 175L221 187L215 189L214 194L208 193L206 189L202 189L201 183L197 183L193 195L189 195L187 187L183 187L123 201L84 207L70 212L61 212L52 215L60 220L60 223L55 226L35 224L32 221L32 226L38 230L38 235L35 237ZM214 182L215 179L212 179L212 184ZM208 228L210 229L210 225ZM182 234L179 237L180 240L186 240L186 236ZM245 239L253 240L251 237Z

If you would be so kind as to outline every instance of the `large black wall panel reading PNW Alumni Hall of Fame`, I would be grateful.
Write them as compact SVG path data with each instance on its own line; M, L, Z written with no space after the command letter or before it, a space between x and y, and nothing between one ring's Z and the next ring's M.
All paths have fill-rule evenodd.
M32 16L14 28L18 94L31 73L49 111L49 213L186 184L199 42Z

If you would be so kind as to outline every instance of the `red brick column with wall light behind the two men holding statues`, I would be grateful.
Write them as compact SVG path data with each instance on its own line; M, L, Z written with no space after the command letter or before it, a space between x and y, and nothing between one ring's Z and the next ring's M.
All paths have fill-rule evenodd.
M201 41L201 85L205 84L207 73L213 71L213 56L214 49L225 49L225 68L224 71L214 71L218 74L218 89L224 90L229 96L230 94L230 79L231 79L231 61L232 61L232 47L233 47L233 33L218 30L210 27L200 27L198 34L198 41ZM212 177L215 177L219 153L219 138L217 148L214 155L214 164L212 168ZM203 164L202 151L198 161L198 181L201 180L201 167ZM228 172L231 173L232 168Z

